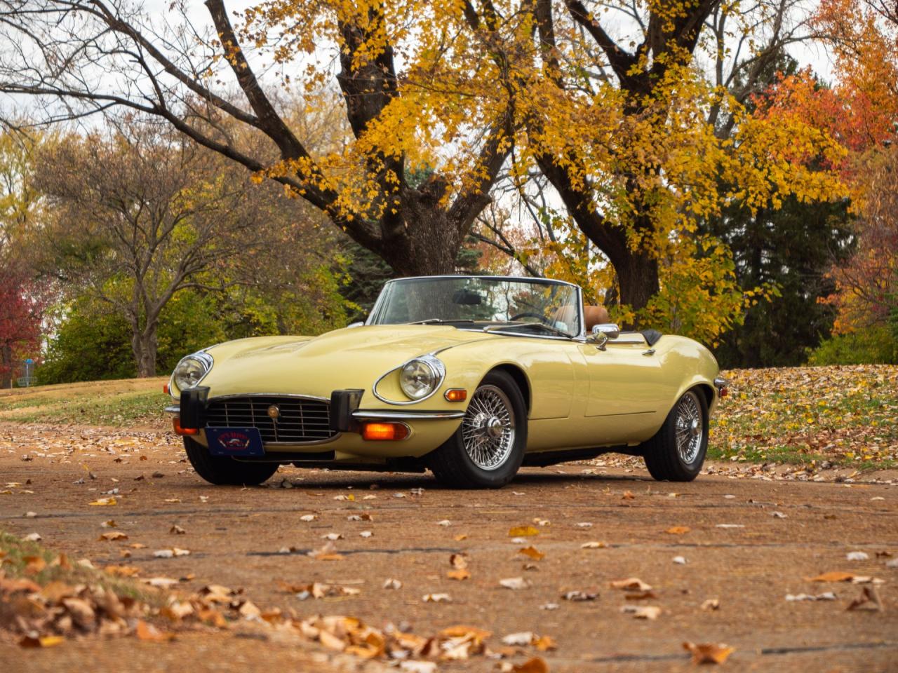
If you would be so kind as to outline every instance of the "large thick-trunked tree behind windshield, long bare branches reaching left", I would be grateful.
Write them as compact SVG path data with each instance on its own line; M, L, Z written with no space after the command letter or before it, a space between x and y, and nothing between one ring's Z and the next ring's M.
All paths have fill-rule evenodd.
M511 139L513 102L471 95L507 91L465 19L495 25L489 3L275 2L241 25L224 0L205 5L203 26L182 2L161 21L119 0L3 0L0 35L17 47L0 54L0 92L35 97L47 121L114 106L163 118L281 183L397 273L452 272ZM342 108L343 142L316 152L278 106L265 58L308 109ZM225 121L265 138L277 161L234 143Z

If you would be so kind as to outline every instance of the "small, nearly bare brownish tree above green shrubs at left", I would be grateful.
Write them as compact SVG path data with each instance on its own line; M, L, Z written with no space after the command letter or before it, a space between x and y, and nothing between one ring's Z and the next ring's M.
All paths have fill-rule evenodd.
M140 376L156 373L160 316L178 293L238 284L237 264L256 284L252 275L271 282L301 262L269 267L281 237L303 233L295 204L166 127L131 120L112 135L69 136L40 162L35 184L56 213L48 268L126 319Z

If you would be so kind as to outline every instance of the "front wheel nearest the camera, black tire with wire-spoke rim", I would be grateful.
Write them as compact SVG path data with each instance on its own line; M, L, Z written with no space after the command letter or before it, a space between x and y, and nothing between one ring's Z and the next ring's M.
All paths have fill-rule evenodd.
M501 488L517 474L527 446L527 410L515 380L490 371L471 396L462 424L430 454L428 467L455 488Z

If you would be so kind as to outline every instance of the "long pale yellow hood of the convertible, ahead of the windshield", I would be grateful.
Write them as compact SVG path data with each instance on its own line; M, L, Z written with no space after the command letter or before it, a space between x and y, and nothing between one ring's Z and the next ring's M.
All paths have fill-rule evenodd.
M433 325L338 329L320 337L241 339L207 350L215 364L209 397L281 393L329 398L337 389L370 393L374 381L416 355L497 336ZM365 396L367 398L367 395Z

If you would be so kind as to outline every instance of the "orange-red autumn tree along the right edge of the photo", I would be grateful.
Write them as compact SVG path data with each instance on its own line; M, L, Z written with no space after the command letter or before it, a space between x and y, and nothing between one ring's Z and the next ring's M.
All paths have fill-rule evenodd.
M763 101L780 120L827 128L848 153L834 168L850 184L855 253L832 259L835 331L880 328L898 307L898 7L881 0L823 0L814 14L834 57L834 81L787 74Z

